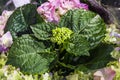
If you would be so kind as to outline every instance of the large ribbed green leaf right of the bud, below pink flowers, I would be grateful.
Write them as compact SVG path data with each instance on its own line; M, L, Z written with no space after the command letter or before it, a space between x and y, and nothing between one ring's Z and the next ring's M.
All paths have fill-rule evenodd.
M83 35L90 43L90 48L97 46L105 34L105 23L99 15L83 9L68 11L60 20L61 27L68 27Z

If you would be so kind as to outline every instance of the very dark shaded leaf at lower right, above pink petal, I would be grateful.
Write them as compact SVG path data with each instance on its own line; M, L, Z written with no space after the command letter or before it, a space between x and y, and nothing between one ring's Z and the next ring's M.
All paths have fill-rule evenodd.
M111 52L113 51L113 46L108 44L100 44L98 47L90 51L90 56L85 57L86 60L84 63L79 63L82 61L79 59L76 70L90 72L96 69L106 67L110 61L114 61L112 58Z

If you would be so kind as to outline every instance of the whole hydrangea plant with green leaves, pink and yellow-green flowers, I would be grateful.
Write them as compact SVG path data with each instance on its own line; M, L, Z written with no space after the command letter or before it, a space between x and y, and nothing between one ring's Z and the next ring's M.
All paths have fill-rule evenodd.
M119 59L118 29L79 0L23 5L3 13L0 27L0 51L7 56L0 59L0 79L119 78L119 67L108 64Z

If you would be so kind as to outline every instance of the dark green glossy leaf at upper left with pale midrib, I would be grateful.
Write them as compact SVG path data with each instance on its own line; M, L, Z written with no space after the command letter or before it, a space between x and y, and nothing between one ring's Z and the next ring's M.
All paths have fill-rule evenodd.
M33 4L27 4L17 8L8 19L5 31L10 31L16 38L22 34L31 33L30 25L43 21L36 11L37 7ZM38 19L39 18L39 19Z

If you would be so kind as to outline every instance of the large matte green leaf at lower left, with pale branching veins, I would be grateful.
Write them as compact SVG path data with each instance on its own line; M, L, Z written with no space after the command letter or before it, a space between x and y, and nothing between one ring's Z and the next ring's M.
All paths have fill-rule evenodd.
M29 35L15 40L8 53L7 64L29 74L46 72L56 56L55 52L50 52L43 42L38 42Z

